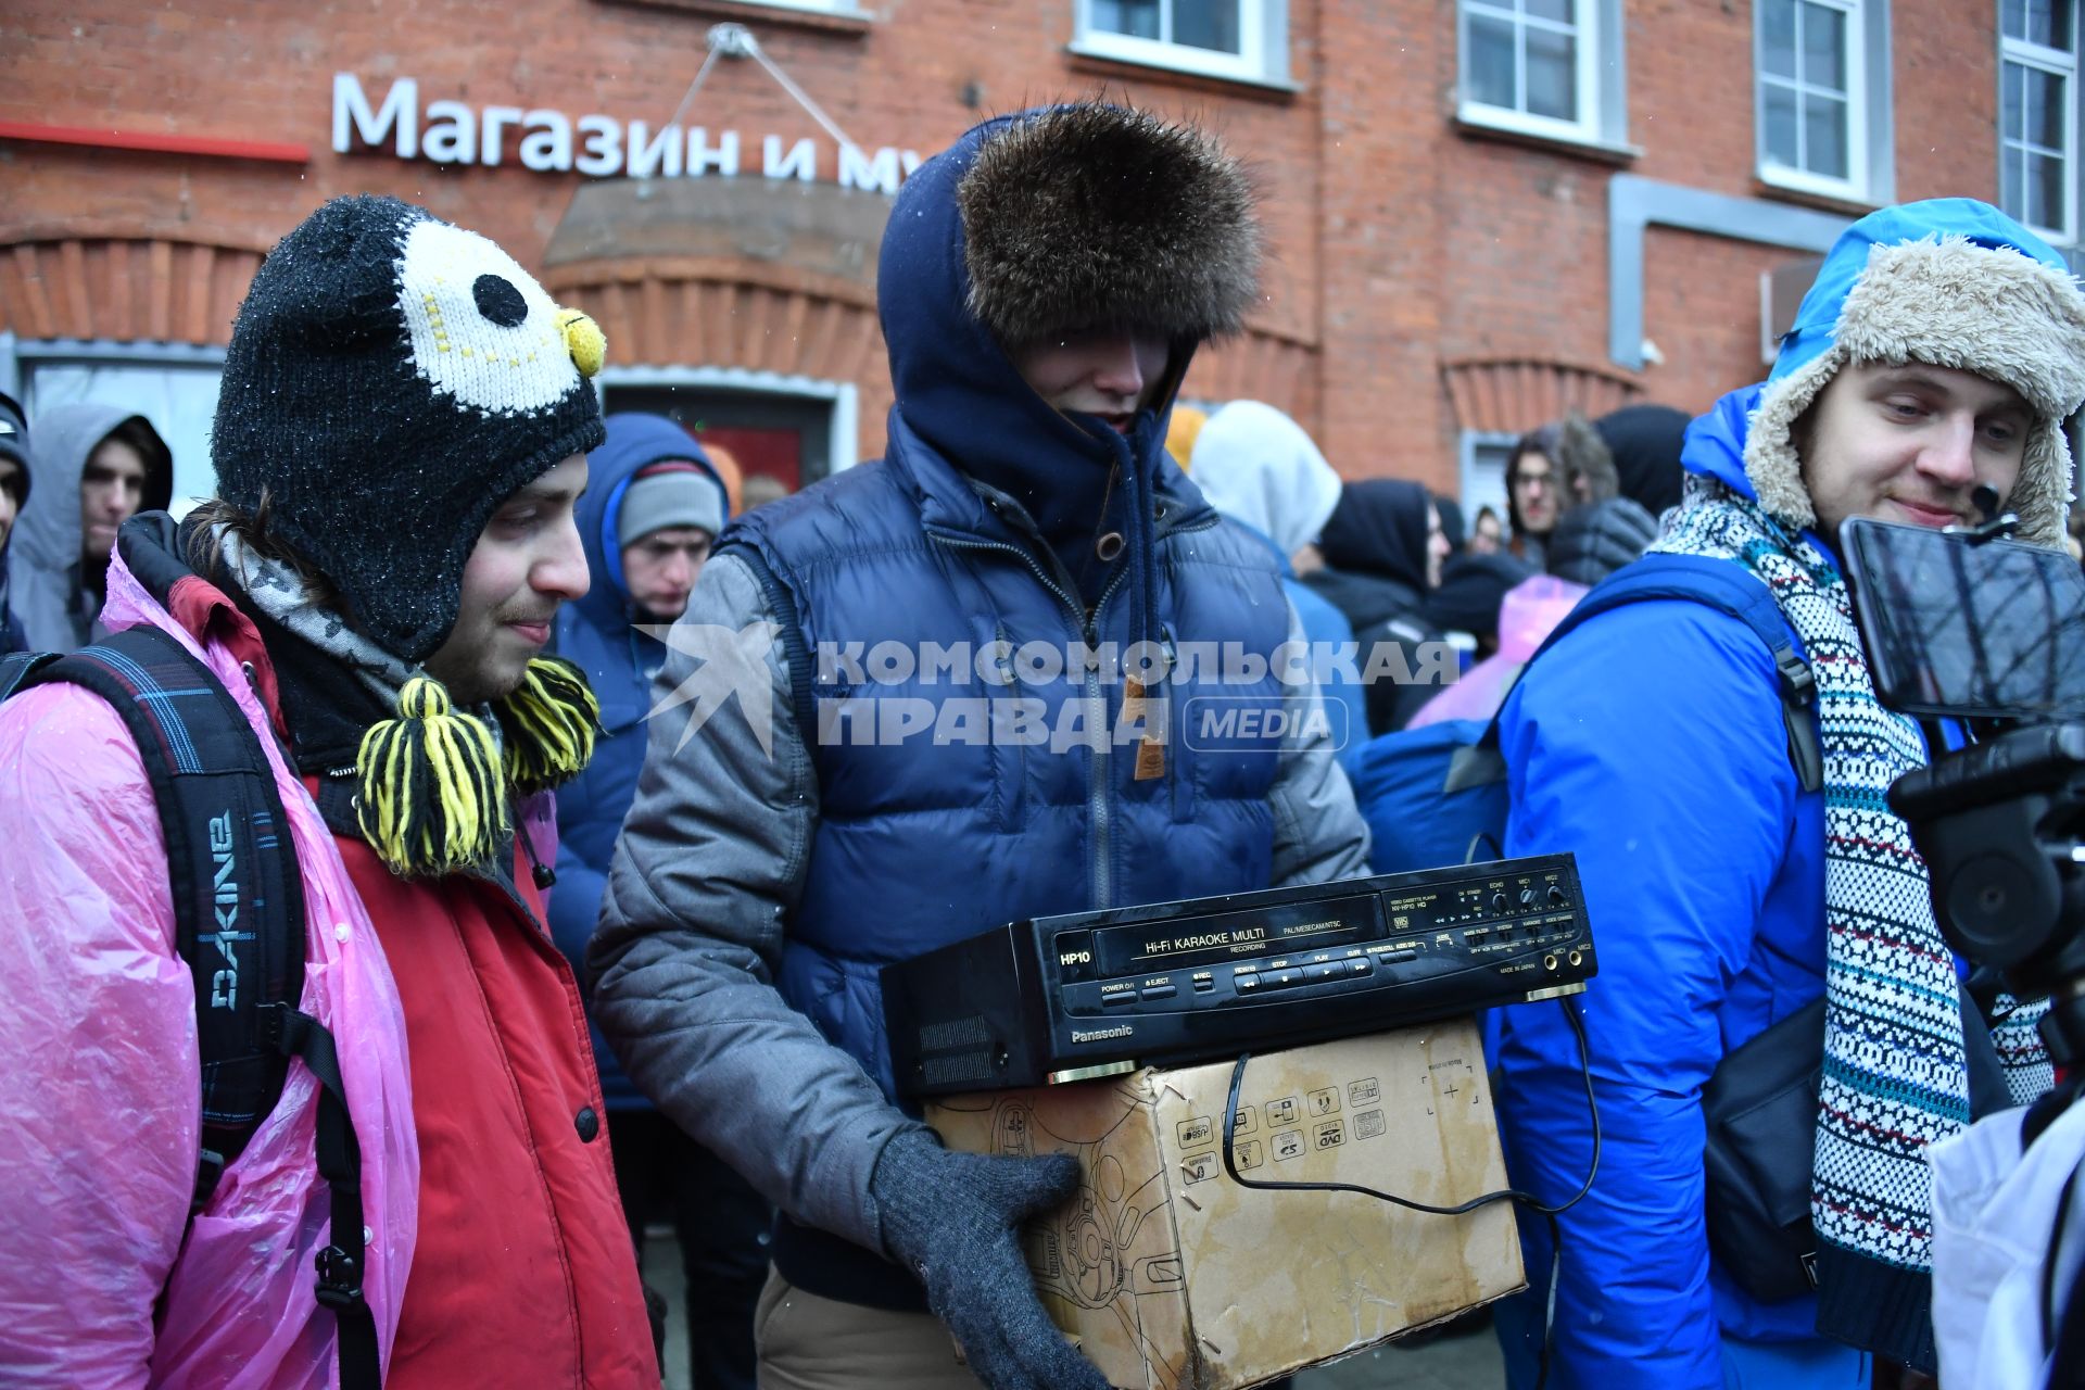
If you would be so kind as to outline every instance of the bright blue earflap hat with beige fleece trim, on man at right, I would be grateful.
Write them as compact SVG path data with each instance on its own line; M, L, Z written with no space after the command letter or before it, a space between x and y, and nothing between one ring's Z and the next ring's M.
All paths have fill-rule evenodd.
M1760 504L1797 529L1816 525L1816 508L1791 431L1849 363L1929 363L2020 392L2035 423L2008 504L2020 540L2062 544L2085 296L2041 238L1972 198L1908 202L1847 227L1781 340L1745 438Z

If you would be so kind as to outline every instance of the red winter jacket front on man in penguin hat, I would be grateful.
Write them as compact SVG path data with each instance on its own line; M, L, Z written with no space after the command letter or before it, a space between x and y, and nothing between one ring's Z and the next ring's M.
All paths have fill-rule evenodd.
M657 1386L586 1013L519 844L509 890L336 840L413 1059L419 1246L386 1388Z

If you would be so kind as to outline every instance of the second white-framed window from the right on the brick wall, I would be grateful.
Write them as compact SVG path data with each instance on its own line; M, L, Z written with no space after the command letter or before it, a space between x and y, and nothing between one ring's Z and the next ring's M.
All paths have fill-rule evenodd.
M1758 0L1760 177L1887 202L1887 0Z

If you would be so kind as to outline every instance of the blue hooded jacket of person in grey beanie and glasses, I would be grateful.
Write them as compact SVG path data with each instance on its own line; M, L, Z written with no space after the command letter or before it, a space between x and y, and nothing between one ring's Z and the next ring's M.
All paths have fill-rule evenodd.
M651 677L665 663L665 644L638 631L648 621L630 602L623 554L615 544L623 494L638 469L663 458L686 458L709 469L701 446L686 429L657 415L611 415L609 438L586 456L586 496L575 521L592 577L586 598L557 615L557 652L586 671L600 700L603 734L586 771L557 790L557 884L550 888L550 936L586 982L586 942L600 915L609 859L623 815L638 790L644 767L644 713L651 709ZM709 475L717 479L715 471ZM717 490L723 481L717 479ZM648 1109L646 1100L594 1029L594 1061L600 1065L600 1094L611 1111Z

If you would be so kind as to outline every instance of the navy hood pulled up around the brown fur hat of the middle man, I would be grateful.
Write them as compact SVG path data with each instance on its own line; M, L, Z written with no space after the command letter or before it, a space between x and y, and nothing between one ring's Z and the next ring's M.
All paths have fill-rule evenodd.
M1124 440L1099 417L1061 415L1049 406L970 313L955 190L978 148L1028 115L974 125L905 179L884 229L876 300L897 388L890 440L911 433L963 473L1013 496L1051 536L1061 529L1057 513L1065 508L1080 511L1080 521L1093 525L1099 492L1115 463L1134 461L1140 477L1155 475L1166 458L1172 390L1161 394L1157 411L1138 415ZM1191 342L1174 344L1172 386L1186 373L1193 348ZM1088 492L1095 506L1074 506Z

